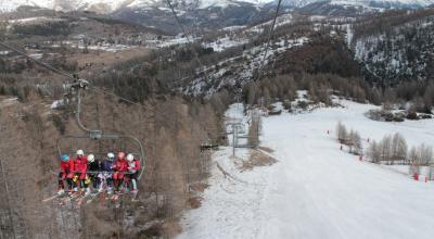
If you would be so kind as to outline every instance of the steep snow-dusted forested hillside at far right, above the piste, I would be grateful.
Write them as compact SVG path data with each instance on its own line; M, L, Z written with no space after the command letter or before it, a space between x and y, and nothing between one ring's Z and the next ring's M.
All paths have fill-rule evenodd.
M353 42L355 58L381 79L424 79L434 64L434 15L362 36Z

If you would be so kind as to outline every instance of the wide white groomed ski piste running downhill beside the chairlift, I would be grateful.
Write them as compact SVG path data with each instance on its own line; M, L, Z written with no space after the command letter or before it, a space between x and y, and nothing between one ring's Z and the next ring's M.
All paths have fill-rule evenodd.
M352 101L305 114L263 117L260 146L269 166L240 169L247 149L214 153L202 205L184 213L183 238L433 238L434 183L416 181L340 150L341 121L367 138L400 133L409 148L430 144L434 121L385 123L363 115L375 106ZM241 114L231 105L227 115ZM330 130L330 134L327 134Z

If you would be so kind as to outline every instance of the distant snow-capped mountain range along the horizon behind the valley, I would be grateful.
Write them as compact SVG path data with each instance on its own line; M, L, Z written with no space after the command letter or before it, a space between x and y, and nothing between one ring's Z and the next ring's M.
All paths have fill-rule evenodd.
M170 1L184 25L203 32L258 23L272 16L277 3L277 0ZM434 0L290 0L283 4L282 12L297 8L307 14L357 16L384 9L424 8L434 4ZM66 12L88 10L166 33L179 33L166 0L0 0L0 12L15 11L22 5Z

